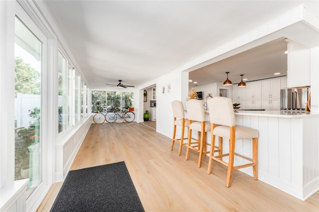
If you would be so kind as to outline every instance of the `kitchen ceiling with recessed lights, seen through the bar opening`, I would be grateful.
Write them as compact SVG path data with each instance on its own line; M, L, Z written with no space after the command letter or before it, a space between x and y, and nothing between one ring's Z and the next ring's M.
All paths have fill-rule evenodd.
M192 83L189 83L189 87L223 83L227 78L226 72L229 72L228 79L233 84L241 81L241 74L244 75L243 79L247 79L244 82L286 76L287 42L284 39L276 39L190 72Z

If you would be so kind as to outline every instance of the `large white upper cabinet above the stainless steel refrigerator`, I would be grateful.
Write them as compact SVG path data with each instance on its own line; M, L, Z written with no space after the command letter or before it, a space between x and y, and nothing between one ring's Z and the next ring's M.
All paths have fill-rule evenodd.
M310 86L311 49L286 39L288 42L288 87Z

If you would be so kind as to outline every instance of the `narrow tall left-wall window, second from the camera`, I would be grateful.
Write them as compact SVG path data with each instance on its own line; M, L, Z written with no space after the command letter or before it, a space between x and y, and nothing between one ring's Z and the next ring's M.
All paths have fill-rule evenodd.
M58 52L58 132L66 129L67 124L67 64L61 52Z

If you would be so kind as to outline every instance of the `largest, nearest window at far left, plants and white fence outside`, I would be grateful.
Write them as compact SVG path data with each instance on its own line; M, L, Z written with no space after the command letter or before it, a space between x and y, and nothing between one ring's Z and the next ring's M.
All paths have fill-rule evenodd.
M15 18L15 174L29 178L27 197L42 182L42 42Z

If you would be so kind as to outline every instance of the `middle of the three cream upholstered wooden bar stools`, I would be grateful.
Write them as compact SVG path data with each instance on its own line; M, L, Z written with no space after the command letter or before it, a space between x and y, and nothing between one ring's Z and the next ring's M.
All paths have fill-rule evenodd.
M205 111L204 106L200 100L191 99L186 101L187 108L187 118L188 118L188 142L186 151L186 160L189 157L189 149L192 149L199 153L198 157L198 167L201 167L203 155L209 153L207 151L207 145L205 134L211 130L209 121L205 121ZM191 137L192 130L197 131L196 142L191 142L195 140Z

